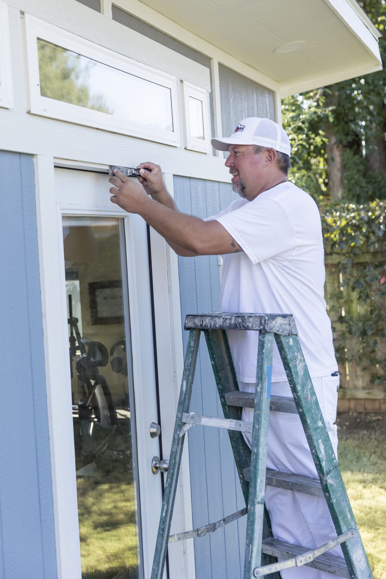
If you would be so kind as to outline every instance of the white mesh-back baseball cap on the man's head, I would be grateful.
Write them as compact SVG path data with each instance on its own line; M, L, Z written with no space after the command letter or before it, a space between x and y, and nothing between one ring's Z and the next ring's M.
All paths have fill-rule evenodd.
M291 144L285 130L273 120L249 116L238 123L230 137L212 139L212 147L228 151L229 145L259 145L291 156Z

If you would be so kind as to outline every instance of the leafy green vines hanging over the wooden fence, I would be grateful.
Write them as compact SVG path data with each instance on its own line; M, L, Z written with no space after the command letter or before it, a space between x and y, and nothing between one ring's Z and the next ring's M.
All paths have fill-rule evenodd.
M386 203L343 203L322 212L326 254L337 257L340 286L329 296L339 325L335 349L340 361L355 336L356 361L370 371L370 381L386 386ZM343 306L343 309L342 309ZM336 328L335 328L336 329Z

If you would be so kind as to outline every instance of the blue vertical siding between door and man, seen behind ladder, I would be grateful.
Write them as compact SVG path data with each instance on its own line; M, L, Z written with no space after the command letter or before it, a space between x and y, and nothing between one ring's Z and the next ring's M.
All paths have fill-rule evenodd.
M231 185L203 179L174 177L177 206L205 218L238 198ZM213 312L219 305L219 267L216 255L178 258L182 324L186 314ZM183 331L186 351L188 332ZM201 339L190 409L197 414L223 416L207 346ZM190 483L193 526L218 521L245 506L226 430L189 430ZM238 579L244 567L245 518L214 534L194 539L197 579Z

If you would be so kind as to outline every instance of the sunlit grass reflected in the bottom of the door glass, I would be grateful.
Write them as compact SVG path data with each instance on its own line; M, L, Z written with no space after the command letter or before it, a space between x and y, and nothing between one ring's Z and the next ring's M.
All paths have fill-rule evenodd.
M78 478L82 579L136 577L138 566L134 483L95 483Z

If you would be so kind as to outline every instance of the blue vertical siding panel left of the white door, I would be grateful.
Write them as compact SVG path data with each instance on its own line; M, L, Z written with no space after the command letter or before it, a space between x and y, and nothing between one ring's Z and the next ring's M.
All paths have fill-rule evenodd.
M34 162L0 151L0 577L57 577Z

